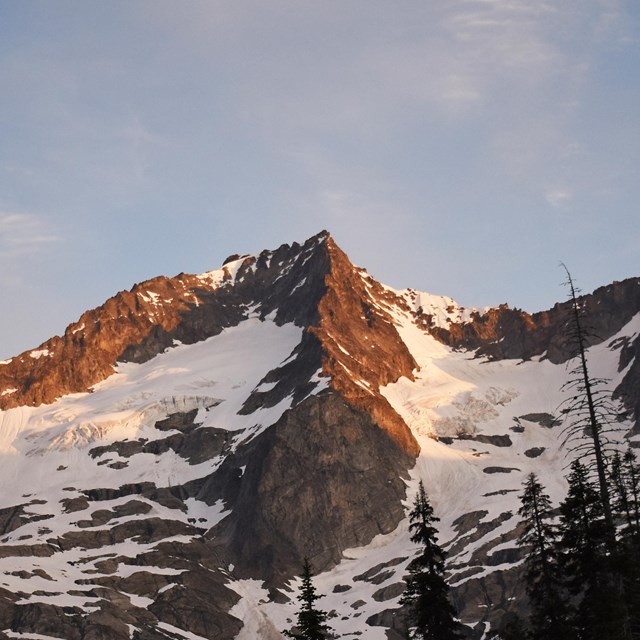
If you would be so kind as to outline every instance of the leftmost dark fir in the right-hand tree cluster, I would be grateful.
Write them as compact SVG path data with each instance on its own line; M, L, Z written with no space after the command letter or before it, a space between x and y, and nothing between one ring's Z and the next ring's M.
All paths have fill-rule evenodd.
M534 473L525 481L520 501L518 514L523 528L518 544L527 549L525 580L531 603L531 638L569 640L572 630L558 571L551 500Z

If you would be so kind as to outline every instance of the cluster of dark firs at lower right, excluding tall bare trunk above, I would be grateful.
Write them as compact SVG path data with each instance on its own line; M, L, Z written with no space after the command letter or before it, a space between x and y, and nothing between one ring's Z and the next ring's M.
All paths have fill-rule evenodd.
M519 543L531 615L503 640L640 639L640 465L629 448L607 471L609 513L598 481L576 460L559 517L538 477L528 477Z

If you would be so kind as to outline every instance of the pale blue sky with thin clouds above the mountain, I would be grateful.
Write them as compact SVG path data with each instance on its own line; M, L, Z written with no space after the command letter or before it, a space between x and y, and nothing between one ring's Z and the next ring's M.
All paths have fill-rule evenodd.
M640 276L635 0L0 0L0 357L331 231L537 311Z

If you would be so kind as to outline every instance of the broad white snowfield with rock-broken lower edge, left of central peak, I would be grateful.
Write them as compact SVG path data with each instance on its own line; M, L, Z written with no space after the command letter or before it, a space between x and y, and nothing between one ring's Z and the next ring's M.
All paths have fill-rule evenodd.
M37 545L76 529L77 521L86 518L86 513L63 513L61 502L80 496L81 489L117 488L143 481L171 486L211 473L221 460L190 465L167 451L161 456L135 455L126 459L127 466L112 468L88 452L98 443L166 437L166 432L153 429L154 423L168 414L193 409L198 410L198 422L203 426L237 431L239 436L247 428L252 435L259 433L280 418L289 408L290 399L251 416L239 416L238 411L262 377L290 356L301 335L302 330L294 325L279 327L269 320L249 319L204 342L176 346L144 364L120 364L117 372L96 385L92 393L70 395L51 405L0 412L0 508L22 504L26 505L25 513L34 516L32 522L4 535L3 545L24 545L27 541ZM118 458L117 454L113 457ZM131 496L103 500L99 508L113 511L130 500ZM184 523L197 520L201 526L211 527L226 515L221 502L208 506L189 499L188 511L183 513L141 496L136 500L148 504L144 517ZM109 525L139 517L124 516ZM154 546L129 539L111 545L108 555L135 558ZM94 563L104 557L103 549L75 547L27 561L0 558L0 586L26 593L29 602L90 611L96 599L70 592L78 592L77 581L86 580ZM16 575L25 568L35 575L26 580ZM124 575L132 570L134 567L121 564L118 572ZM154 567L145 570L167 571ZM56 595L34 595L52 591L52 585ZM182 635L196 637L185 632Z

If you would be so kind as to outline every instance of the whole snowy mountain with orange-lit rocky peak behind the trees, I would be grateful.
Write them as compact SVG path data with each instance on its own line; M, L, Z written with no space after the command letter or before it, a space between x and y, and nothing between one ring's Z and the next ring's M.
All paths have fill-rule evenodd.
M583 302L638 444L640 280ZM326 232L117 294L0 363L0 638L280 638L305 556L340 637L400 638L421 479L491 637L523 479L565 491L566 310L396 291Z

